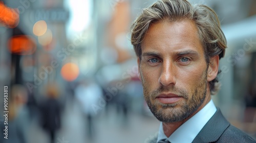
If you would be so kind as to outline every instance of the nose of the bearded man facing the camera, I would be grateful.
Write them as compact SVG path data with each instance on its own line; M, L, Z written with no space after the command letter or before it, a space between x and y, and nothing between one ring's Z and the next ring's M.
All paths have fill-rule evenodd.
M169 84L175 85L176 84L176 68L174 63L170 61L163 62L161 75L159 77L158 82L164 86Z

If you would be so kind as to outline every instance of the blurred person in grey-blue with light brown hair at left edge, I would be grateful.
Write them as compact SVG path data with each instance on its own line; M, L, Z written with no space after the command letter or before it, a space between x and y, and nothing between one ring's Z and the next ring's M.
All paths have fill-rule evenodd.
M2 143L27 143L29 125L29 111L26 103L28 93L23 85L15 84L11 87L8 113L8 139L1 136ZM4 124L1 125L1 134L5 129Z

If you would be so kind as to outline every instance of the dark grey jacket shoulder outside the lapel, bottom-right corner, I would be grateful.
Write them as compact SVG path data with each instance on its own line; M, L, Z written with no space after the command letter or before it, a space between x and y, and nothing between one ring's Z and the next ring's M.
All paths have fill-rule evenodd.
M230 125L220 136L217 142L254 142L256 141L250 137L245 132L241 131L240 129Z

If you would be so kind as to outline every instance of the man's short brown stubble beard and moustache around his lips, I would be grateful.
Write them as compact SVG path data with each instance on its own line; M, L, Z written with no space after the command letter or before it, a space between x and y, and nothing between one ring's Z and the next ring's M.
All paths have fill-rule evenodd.
M161 122L174 123L183 121L193 114L203 104L206 97L206 71L203 73L201 80L195 82L197 84L190 96L186 90L178 88L175 85L168 87L161 86L156 90L149 91L148 86L142 82L145 101L154 116ZM156 99L161 92L172 92L179 97L184 98L184 102L162 104Z

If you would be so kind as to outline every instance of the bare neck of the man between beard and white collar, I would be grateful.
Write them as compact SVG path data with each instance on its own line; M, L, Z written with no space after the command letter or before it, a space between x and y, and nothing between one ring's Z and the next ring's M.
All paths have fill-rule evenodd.
M199 106L199 108L191 115L189 115L187 118L185 118L185 120L180 121L180 122L174 122L174 123L164 123L163 122L163 132L164 134L169 137L170 135L172 135L183 123L185 123L187 120L189 120L189 118L191 118L192 116L194 116L197 112L199 112L207 103L209 103L211 97L210 97L210 93L207 92L206 97L204 102L202 103L201 106Z

